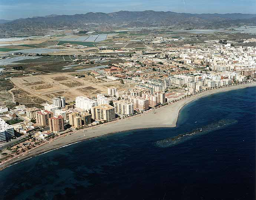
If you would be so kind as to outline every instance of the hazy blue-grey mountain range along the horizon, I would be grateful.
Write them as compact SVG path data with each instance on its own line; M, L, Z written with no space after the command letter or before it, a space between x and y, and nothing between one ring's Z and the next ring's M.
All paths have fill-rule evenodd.
M0 20L1 21L1 20ZM190 14L171 11L118 11L114 13L86 13L55 15L2 21L0 34L42 34L47 29L90 28L114 30L118 27L168 26L171 28L230 28L255 25L256 14Z

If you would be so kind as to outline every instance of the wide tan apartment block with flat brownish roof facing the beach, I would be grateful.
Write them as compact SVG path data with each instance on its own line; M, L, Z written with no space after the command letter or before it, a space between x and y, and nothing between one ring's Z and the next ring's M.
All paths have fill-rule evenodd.
M100 121L112 121L115 119L115 108L108 104L93 106L91 108L92 119Z

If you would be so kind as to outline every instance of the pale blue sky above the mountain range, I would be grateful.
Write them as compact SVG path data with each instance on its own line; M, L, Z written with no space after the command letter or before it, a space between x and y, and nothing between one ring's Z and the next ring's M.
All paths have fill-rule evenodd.
M120 10L256 14L256 0L0 0L0 19L5 20Z

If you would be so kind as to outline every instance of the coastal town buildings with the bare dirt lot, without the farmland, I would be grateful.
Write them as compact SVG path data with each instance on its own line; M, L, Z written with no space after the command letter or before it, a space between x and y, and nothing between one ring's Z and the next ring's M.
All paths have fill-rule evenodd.
M8 102L13 101L1 99L4 105L0 106L0 163L80 129L86 135L86 130L102 123L154 112L216 88L255 82L255 47L235 47L221 40L206 41L207 45L166 44L185 39L141 40L144 44L157 45L154 47L159 50L136 50L126 56L119 55L119 60L108 57L110 64L86 70L57 74L29 72L7 77L14 86L10 92L16 105L9 106ZM100 53L115 51L99 50ZM22 52L11 54L11 59L43 58L31 53L30 56ZM76 55L71 59L72 65L64 69L105 59L102 55L90 55L94 60ZM2 62L5 60L8 58ZM24 73L22 67L0 71L2 75Z

